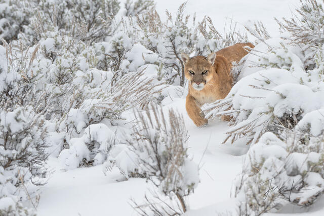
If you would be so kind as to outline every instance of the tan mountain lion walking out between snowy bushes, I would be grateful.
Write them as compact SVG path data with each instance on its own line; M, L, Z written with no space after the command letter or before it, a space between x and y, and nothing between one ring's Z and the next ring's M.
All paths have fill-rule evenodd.
M231 90L233 82L231 76L232 63L238 62L248 54L243 49L245 46L254 48L250 43L235 44L218 51L216 59L213 53L208 57L195 56L190 59L186 54L181 55L184 62L185 76L189 80L186 109L189 117L197 126L208 123L204 114L201 113L200 107L205 103L212 103L225 98ZM206 73L203 74L203 72ZM201 89L201 85L204 85L203 89ZM197 90L197 88L201 90Z

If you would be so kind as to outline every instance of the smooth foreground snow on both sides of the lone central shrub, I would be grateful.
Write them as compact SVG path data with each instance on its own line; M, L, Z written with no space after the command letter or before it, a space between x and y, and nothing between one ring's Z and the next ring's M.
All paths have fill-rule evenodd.
M200 184L189 197L190 207L198 209L229 199L232 180L241 168L242 157L238 155L246 148L220 145L227 128L225 122L197 128L186 114L185 99L165 109L169 107L184 115L190 136L189 153L201 167ZM53 174L42 188L39 215L133 215L130 199L141 201L148 192L144 179L117 182L122 177L119 171L114 169L105 176L102 165L63 171L58 159L51 157L49 166Z

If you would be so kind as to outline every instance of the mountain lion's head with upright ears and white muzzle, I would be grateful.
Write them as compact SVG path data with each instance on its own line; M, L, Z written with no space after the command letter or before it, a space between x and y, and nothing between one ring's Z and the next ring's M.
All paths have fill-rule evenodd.
M181 59L184 64L184 74L192 85L193 89L201 91L215 74L214 62L216 53L211 53L207 57L195 56L190 58L182 53Z

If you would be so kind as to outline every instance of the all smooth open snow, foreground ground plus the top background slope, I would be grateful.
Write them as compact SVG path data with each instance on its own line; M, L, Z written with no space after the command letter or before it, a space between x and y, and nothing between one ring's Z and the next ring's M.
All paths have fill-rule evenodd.
M165 10L169 10L175 15L182 2L158 0L157 11L164 14ZM226 17L240 24L261 20L269 33L275 36L278 34L278 26L273 17L290 17L297 3L297 0L191 0L188 1L186 12L196 13L198 20L205 15L210 16L218 29L223 29ZM238 27L242 28L240 24ZM170 107L184 115L190 136L189 153L200 167L200 184L188 197L191 210L187 215L217 215L216 210L233 210L233 202L229 201L232 181L241 170L242 155L248 147L221 145L224 131L228 128L226 122L216 120L206 127L197 128L186 113L184 98L171 102L164 109ZM121 178L117 169L105 176L103 165L64 171L58 159L51 157L48 166L53 172L48 184L41 188L41 200L37 208L41 216L135 215L130 199L140 202L150 187L144 179L116 181ZM299 215L324 215L323 204L323 199L319 200L309 212ZM300 211L298 207L294 209Z

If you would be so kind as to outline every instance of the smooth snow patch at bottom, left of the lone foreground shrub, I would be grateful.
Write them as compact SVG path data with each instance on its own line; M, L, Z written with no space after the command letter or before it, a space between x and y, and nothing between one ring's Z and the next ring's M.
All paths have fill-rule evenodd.
M116 182L117 169L107 178L102 165L60 170L57 159L50 158L53 176L42 189L37 215L134 215L130 198L142 198L147 187L144 179ZM123 201L121 201L123 200Z

